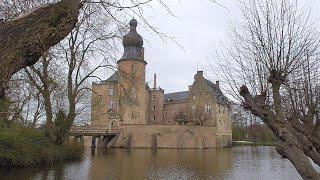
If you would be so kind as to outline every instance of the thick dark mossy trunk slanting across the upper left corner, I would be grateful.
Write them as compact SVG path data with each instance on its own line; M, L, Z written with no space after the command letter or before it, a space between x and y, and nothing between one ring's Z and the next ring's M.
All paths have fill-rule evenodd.
M0 22L0 99L14 73L35 64L72 31L80 8L80 0L61 0Z

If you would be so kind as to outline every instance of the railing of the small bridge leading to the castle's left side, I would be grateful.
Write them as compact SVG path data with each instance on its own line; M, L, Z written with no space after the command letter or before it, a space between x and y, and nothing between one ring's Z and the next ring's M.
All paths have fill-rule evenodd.
M70 129L70 135L114 135L118 133L118 128L107 128L107 127L72 127Z

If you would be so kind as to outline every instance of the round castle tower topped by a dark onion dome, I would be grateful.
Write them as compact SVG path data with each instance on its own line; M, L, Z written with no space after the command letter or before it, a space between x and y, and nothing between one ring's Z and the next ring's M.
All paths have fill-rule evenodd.
M144 60L143 39L136 28L137 21L132 19L130 31L123 37L124 53L118 61L122 124L147 124L147 62Z

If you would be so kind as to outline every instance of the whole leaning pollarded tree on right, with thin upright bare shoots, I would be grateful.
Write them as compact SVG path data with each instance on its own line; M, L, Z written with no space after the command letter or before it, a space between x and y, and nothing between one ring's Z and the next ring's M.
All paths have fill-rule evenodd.
M320 165L317 27L295 0L241 5L243 21L231 33L221 74L244 108L270 127L277 152L304 179L319 179L309 160Z

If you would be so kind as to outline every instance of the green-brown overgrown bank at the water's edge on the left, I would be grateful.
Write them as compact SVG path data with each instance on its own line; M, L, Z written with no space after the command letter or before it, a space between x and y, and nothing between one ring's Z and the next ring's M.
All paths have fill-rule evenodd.
M82 152L82 147L77 143L55 145L40 130L0 128L0 167L26 167L77 160Z

